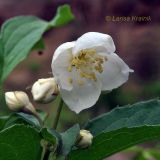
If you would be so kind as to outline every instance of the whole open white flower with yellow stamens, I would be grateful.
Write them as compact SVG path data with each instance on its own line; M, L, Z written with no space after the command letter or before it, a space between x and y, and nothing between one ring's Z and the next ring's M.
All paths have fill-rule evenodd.
M71 110L79 113L93 106L101 91L110 91L128 80L133 70L114 52L112 38L97 32L88 32L56 49L52 71Z

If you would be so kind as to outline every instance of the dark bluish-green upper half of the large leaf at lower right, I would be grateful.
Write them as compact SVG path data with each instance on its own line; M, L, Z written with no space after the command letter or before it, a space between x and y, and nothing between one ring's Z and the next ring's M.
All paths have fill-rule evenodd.
M160 124L160 100L154 99L138 102L125 107L117 107L89 121L85 129L96 136L101 132L112 131L123 127ZM103 125L102 125L103 124Z

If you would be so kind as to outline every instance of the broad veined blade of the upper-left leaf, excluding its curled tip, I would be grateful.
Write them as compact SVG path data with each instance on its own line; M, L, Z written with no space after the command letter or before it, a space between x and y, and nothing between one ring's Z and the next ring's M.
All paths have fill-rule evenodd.
M27 57L47 27L47 22L32 16L16 17L4 23L0 33L3 45L3 50L0 52L3 59L3 63L0 63L1 82L19 62Z

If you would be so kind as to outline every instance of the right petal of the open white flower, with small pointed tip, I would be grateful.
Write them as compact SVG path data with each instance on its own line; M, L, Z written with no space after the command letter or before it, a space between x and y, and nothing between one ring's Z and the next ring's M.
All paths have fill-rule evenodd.
M107 55L107 59L100 74L103 91L121 86L128 80L129 72L133 72L117 54Z

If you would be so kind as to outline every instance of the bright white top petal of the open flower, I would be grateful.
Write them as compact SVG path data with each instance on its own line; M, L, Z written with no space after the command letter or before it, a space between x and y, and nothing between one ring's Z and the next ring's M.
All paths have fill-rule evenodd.
M73 48L73 55L77 55L83 49L95 49L98 52L115 52L115 45L112 37L99 32L88 32L77 39Z

